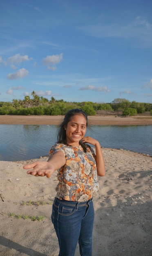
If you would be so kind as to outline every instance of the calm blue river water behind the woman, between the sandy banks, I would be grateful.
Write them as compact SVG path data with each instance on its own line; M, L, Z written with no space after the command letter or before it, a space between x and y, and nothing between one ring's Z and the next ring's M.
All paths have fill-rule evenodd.
M152 126L93 126L86 136L104 148L121 148L152 156ZM0 125L0 160L20 161L48 155L56 142L55 125Z

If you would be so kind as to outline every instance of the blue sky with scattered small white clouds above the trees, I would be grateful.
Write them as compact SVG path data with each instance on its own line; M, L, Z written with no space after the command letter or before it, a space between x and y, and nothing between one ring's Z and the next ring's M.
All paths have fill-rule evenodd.
M152 103L152 0L1 0L0 101Z

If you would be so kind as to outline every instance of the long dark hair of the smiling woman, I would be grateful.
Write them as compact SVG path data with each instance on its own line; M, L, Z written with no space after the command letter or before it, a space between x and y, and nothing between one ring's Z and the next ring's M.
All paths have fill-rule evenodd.
M58 131L58 136L57 136L58 142L57 143L67 144L65 126L67 126L67 123L72 119L72 117L74 115L83 115L86 119L86 123L87 123L86 127L88 127L87 114L83 110L78 109L78 108L69 110L65 114L64 120L59 126L59 131ZM86 152L87 151L86 144L83 143L83 141L81 141L81 140L79 141L79 144L82 146L83 150Z

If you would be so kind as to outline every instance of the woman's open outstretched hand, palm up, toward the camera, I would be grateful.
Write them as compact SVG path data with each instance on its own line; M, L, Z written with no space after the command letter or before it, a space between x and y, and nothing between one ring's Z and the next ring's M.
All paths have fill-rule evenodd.
M33 168L32 170L27 171L27 174L41 177L47 176L47 178L51 177L54 172L52 164L46 161L36 161L31 164L25 164L23 168L26 170Z

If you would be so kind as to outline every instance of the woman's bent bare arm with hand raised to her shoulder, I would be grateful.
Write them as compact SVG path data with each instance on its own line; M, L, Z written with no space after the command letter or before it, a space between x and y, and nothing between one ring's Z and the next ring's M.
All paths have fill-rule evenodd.
M92 144L96 148L96 168L97 168L97 174L98 176L104 176L105 175L105 160L103 158L103 153L101 150L100 143L91 137L83 137L83 142Z

